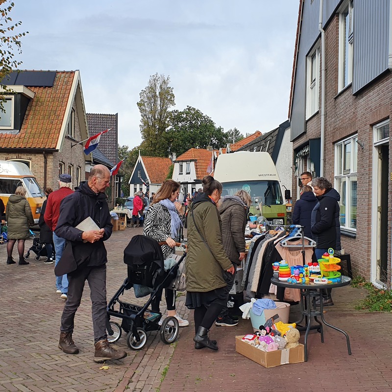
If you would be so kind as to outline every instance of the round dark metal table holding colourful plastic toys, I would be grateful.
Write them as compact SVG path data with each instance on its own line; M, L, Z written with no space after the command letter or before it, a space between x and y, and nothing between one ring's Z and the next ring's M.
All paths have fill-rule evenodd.
M290 289L299 289L301 293L301 319L296 321L297 329L300 331L305 332L305 362L308 360L308 352L307 352L307 341L308 341L308 334L311 329L317 329L321 335L321 343L324 343L324 335L322 330L322 324L335 329L338 332L343 333L347 340L347 349L348 354L351 355L351 347L350 347L350 339L345 331L335 327L327 323L324 319L323 314L323 305L322 305L322 289L336 289L338 287L348 286L351 283L351 279L348 276L342 276L341 282L336 283L328 283L328 284L314 284L310 282L308 284L301 284L301 283L287 283L286 281L279 280L277 278L271 278L271 283L278 287L290 288ZM320 306L316 306L316 300L320 300ZM320 317L321 321L318 319ZM318 325L311 325L312 317L318 323ZM305 318L305 325L301 326L300 324L303 319Z

